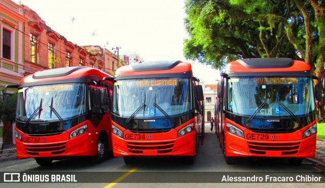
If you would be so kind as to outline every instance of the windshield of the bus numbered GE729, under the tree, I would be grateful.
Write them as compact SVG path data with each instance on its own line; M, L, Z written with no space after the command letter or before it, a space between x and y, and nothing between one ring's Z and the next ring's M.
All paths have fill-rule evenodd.
M310 77L232 77L227 84L227 110L237 115L297 119L315 109Z

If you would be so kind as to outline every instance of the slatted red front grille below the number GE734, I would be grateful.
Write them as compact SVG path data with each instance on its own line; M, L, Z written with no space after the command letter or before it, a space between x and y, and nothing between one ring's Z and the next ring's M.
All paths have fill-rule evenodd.
M169 153L173 151L174 141L172 142L126 142L127 149L131 153L143 153L145 150L157 150L157 153Z

